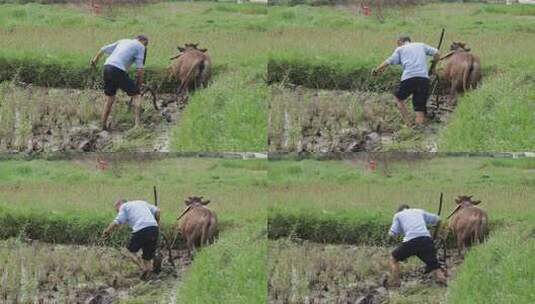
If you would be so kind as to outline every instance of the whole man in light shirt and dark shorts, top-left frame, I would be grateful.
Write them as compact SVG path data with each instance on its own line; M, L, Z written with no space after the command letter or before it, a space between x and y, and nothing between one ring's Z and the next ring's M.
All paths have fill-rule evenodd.
M91 59L91 65L96 66L100 57L107 54L109 57L104 63L104 94L106 106L102 112L102 128L107 129L108 116L115 101L117 89L121 89L132 97L136 127L139 126L141 116L140 88L143 84L144 63L146 47L149 39L139 35L135 39L122 39L115 43L103 46ZM128 69L132 63L136 64L136 81L128 77Z

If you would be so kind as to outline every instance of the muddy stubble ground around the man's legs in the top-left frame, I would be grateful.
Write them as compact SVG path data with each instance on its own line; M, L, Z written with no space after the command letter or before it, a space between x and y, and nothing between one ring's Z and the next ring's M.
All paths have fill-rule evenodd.
M169 128L185 103L171 95L143 97L143 127L134 127L133 108L126 95L118 95L108 130L102 130L101 91L53 89L31 85L0 87L0 151L92 152L169 150Z

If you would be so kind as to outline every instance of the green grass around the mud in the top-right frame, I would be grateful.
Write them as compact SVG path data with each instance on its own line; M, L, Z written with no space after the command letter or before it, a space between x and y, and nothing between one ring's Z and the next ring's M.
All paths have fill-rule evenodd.
M535 18L529 5L433 3L384 10L385 22L334 7L273 6L268 79L314 88L384 90L398 69L382 78L369 72L391 54L399 34L442 50L464 41L481 58L480 90L460 99L460 108L440 138L442 151L528 151L533 149ZM441 70L441 67L439 67ZM489 100L491 99L491 100ZM410 148L410 147L409 147ZM406 147L400 146L401 150Z

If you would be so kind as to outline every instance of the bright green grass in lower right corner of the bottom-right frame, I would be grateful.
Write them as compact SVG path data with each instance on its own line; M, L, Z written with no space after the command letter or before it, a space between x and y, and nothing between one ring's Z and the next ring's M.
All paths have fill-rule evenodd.
M471 250L449 288L448 303L533 303L533 227L532 222L501 231Z

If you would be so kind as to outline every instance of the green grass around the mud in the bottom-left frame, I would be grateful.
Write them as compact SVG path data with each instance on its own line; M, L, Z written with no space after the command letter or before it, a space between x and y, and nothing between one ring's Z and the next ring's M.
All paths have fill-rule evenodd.
M2 236L37 235L50 241L91 243L114 218L115 199L153 202L153 185L158 187L163 226L169 229L183 210L184 199L203 195L218 215L220 242L196 258L183 278L180 289L185 291L179 292L179 303L216 303L223 294L228 303L265 298L266 258L258 248L265 246L260 226L265 223L268 203L266 161L103 157L110 163L105 172L96 169L96 156L0 162L0 221L10 227ZM20 221L22 227L17 226ZM21 229L10 233L17 227ZM124 243L127 234L125 229L114 240ZM210 293L188 293L203 286Z

